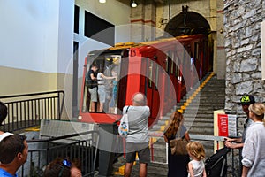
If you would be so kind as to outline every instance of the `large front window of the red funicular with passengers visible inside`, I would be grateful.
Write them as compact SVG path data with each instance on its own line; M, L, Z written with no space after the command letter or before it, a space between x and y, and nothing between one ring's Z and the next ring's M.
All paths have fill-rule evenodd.
M93 62L93 63L92 63ZM83 112L108 112L117 114L118 81L121 55L87 57L87 76ZM97 66L91 67L93 65ZM95 76L95 80L91 80ZM95 101L93 101L95 100Z

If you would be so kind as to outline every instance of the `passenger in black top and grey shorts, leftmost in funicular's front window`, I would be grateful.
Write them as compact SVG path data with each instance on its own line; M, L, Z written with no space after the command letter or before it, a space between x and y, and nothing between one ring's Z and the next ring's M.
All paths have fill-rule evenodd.
M97 103L97 81L96 81L97 70L98 66L92 64L90 70L87 73L88 91L90 93L90 101L91 101L91 106L90 106L91 112L95 112L95 104Z

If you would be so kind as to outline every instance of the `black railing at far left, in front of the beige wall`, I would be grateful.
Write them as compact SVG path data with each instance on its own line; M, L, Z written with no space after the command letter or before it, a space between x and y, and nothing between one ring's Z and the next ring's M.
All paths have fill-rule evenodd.
M13 132L39 126L41 119L61 119L64 91L0 96L0 101L8 107L2 129Z

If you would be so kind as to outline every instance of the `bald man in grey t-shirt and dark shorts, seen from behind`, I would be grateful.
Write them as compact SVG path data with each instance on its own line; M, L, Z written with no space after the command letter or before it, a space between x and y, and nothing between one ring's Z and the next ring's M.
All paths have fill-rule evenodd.
M128 106L125 106L125 114ZM147 106L146 96L136 93L133 96L133 105L127 110L129 120L129 134L126 137L126 164L125 177L131 176L133 162L136 152L139 156L140 170L139 176L147 176L148 163L150 162L149 137L148 137L148 117L150 115Z

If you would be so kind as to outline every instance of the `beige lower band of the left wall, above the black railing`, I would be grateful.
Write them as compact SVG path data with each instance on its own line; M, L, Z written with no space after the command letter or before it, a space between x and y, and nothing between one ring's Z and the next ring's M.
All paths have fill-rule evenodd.
M42 73L0 66L0 96L64 90L64 81L69 76L64 73ZM72 89L65 90L65 96L72 94ZM68 115L72 115L72 109L66 112L64 106L62 119L69 119Z

